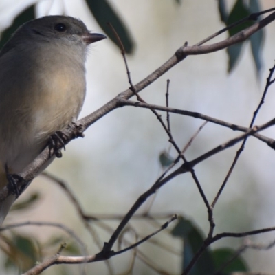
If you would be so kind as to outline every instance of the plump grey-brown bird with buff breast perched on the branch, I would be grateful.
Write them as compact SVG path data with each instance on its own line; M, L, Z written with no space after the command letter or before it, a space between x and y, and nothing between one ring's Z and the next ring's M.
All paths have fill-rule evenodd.
M80 19L52 15L21 25L0 50L0 190L57 131L78 118L88 46L105 39ZM43 169L45 169L50 159ZM15 195L0 201L0 226Z

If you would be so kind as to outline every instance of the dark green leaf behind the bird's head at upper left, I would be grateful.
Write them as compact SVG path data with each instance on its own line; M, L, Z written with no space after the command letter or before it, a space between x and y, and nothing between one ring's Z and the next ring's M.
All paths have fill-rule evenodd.
M12 25L1 34L0 49L10 39L10 36L25 22L34 19L34 5L21 12Z

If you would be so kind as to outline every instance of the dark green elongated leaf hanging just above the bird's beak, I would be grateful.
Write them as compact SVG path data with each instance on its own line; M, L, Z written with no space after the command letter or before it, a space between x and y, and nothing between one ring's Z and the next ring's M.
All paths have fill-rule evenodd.
M113 10L111 5L108 3L107 0L86 0L89 9L91 10L92 14L98 24L104 30L104 32L109 36L109 38L119 46L117 39L115 38L115 34L107 25L107 23L111 23L115 31L118 33L122 44L124 45L124 49L126 53L133 52L134 43L131 39L131 35L129 30L126 28L118 14Z

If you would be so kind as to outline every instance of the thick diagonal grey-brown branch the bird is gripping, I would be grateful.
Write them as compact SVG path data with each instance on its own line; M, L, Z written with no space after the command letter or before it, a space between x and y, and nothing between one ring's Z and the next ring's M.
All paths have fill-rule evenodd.
M243 42L245 41L245 39L248 39L248 37L250 37L255 32L261 30L262 28L265 28L266 25L272 23L272 21L274 20L275 12L270 14L265 19L262 19L261 21L250 26L249 28L246 28L245 30L238 32L234 36L231 36L228 39L225 39L219 43L213 43L211 45L204 46L184 45L184 47L180 47L177 50L177 52L162 66L156 69L155 72L144 78L144 80L140 81L140 83L137 83L137 85L134 86L135 92L138 93L142 89L146 88L148 85L153 83L153 81L157 80L160 76L166 73L170 68L177 65L177 63L183 61L186 58L186 56L194 54L208 54L209 52L217 52L219 50L225 49L226 47L229 47L230 45ZM131 98L131 96L135 94L135 92L131 89L128 89L120 93L118 96L113 98L113 100L109 101L107 104L104 104L104 106L102 106L100 109L94 111L94 113L91 113L90 115L87 115L85 118L82 118L78 120L78 122L70 125L67 129L63 131L64 135L67 137L67 140L65 140L64 145L66 145L74 138L82 136L83 131L85 131L89 126L91 126L91 124L94 124L94 122L98 121L104 115L107 115L107 113L113 111L114 109L117 109L118 107L122 107L123 105L121 104L119 98L129 99ZM56 149L62 147L63 145L58 144ZM41 152L41 154L38 157L36 157L36 159L34 159L34 161L19 174L19 176L23 177L23 179L25 179L25 181L27 182L32 181L34 177L39 175L41 167L45 164L45 162L47 162L53 156L54 152L51 152L50 148L48 147L45 148ZM18 187L20 187L22 184L23 183L21 182L17 183ZM4 187L0 192L0 201L3 201L3 199L8 197L8 195L10 194L11 192L9 188Z

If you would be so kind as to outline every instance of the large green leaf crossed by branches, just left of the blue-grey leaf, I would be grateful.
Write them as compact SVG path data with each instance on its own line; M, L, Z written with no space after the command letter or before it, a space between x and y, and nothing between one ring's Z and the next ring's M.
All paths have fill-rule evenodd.
M232 8L228 21L226 25L231 25L232 23L235 23L236 21L239 21L243 19L244 17L248 17L250 15L250 10L248 7L244 4L243 0L236 0L234 7ZM241 25L237 25L234 28L231 28L228 30L229 35L233 36L234 34L241 32L241 30L248 28L250 25L252 25L252 22L245 22ZM232 45L228 47L227 53L228 53L228 72L232 72L232 69L234 69L237 61L239 61L239 58L241 56L241 49L243 47L243 43L239 43L236 45Z

